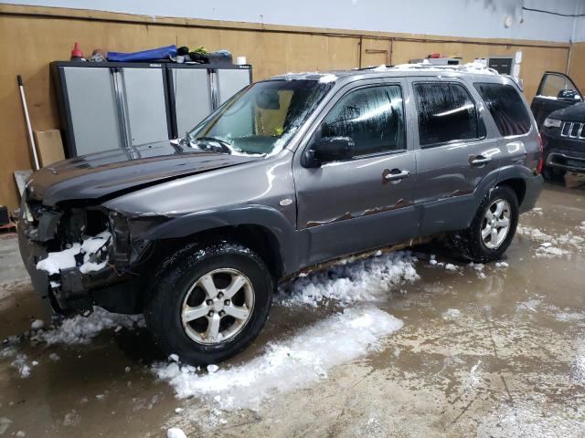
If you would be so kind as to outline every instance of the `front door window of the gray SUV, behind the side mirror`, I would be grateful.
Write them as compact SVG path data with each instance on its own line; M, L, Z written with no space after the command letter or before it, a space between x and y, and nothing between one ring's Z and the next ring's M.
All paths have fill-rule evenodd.
M406 149L402 90L388 85L349 92L325 117L321 137L350 137L355 156Z

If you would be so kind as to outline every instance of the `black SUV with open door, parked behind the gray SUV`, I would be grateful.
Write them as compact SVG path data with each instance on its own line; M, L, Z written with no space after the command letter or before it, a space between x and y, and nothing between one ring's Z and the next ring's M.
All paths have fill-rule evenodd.
M571 78L546 72L531 109L542 135L543 176L556 179L567 171L585 172L585 103Z

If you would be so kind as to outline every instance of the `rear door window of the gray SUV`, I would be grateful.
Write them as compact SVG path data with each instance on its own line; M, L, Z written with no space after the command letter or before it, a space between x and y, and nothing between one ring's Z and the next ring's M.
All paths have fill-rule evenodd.
M414 84L420 145L476 139L477 110L466 89L449 82Z

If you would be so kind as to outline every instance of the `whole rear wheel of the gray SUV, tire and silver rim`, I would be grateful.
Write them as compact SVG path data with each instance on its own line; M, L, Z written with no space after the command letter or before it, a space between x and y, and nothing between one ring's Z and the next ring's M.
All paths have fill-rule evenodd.
M495 187L485 194L469 228L453 233L450 244L473 262L501 259L516 234L518 215L514 190L505 185Z

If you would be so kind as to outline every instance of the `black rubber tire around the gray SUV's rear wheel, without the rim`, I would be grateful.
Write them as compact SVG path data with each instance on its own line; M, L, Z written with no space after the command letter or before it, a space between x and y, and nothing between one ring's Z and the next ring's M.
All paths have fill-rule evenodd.
M496 200L503 199L510 205L510 228L504 241L497 248L488 248L482 239L482 224L487 208ZM518 199L508 186L495 187L485 194L469 228L449 236L449 244L464 258L477 263L499 260L504 255L516 234L518 224Z

